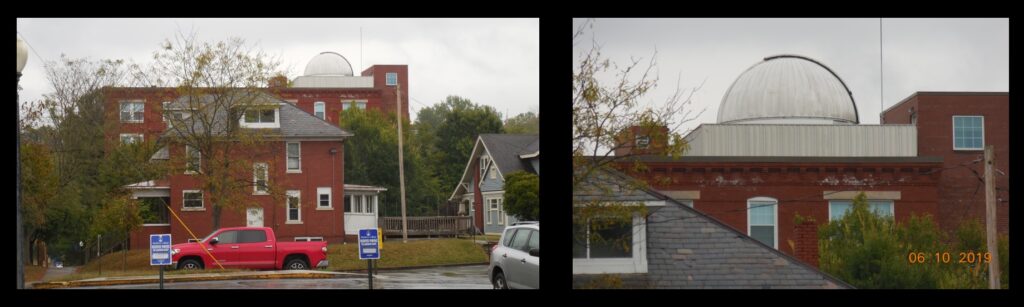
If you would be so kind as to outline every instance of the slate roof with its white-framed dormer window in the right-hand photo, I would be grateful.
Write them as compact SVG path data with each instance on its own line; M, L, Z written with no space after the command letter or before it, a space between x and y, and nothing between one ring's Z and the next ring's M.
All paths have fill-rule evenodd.
M573 189L573 207L618 203L647 209L622 226L588 230L573 223L573 288L614 287L608 280L615 279L629 289L852 288L686 204L627 187L633 180L601 171ZM604 278L609 275L617 278Z

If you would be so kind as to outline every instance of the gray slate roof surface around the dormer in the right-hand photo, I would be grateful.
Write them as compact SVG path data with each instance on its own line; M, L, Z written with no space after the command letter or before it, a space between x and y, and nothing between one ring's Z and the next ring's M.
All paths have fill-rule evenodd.
M608 172L598 180L632 178ZM594 184L600 184L595 181ZM623 274L624 287L649 289L852 289L796 258L691 209L657 191L645 189L644 200L657 199L647 219L647 273ZM573 191L573 201L592 196ZM612 196L632 200L637 195ZM598 275L573 276L581 287Z

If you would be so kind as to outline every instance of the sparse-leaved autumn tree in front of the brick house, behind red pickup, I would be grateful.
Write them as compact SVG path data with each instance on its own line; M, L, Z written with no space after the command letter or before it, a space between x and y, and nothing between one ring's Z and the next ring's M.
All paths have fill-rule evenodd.
M183 173L193 156L185 152L198 151L191 176L210 201L213 229L220 227L223 210L241 212L251 204L253 165L273 149L275 131L241 128L237 119L278 106L263 86L280 74L279 67L240 38L211 43L179 34L154 52L151 70L141 76L145 85L173 87L175 103L187 112L181 119L165 115L170 125L163 139L171 151L166 175ZM283 200L276 181L268 180L268 190Z

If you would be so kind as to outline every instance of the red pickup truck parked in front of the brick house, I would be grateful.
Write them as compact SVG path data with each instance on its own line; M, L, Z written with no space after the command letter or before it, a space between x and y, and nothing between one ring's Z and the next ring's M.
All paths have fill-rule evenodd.
M203 249L209 253L203 251ZM179 269L216 268L309 269L327 267L327 242L278 242L269 227L230 227L213 231L199 243L171 247Z

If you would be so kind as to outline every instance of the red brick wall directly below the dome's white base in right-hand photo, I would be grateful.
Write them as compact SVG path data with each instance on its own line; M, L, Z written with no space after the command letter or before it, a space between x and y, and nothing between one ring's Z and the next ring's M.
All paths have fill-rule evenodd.
M624 163L627 168L631 163ZM748 233L748 200L757 196L778 201L778 250L793 254L788 240L797 242L797 214L828 221L827 190L901 192L894 201L896 221L913 215L937 213L936 186L939 163L648 163L650 172L633 173L658 190L699 190L693 208ZM885 169L885 171L883 170ZM891 172L889 172L891 170ZM855 179L845 181L846 179ZM838 180L837 180L838 179ZM836 181L834 181L836 180Z

